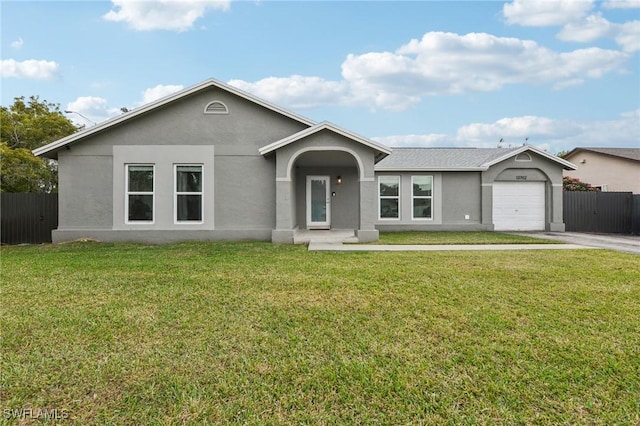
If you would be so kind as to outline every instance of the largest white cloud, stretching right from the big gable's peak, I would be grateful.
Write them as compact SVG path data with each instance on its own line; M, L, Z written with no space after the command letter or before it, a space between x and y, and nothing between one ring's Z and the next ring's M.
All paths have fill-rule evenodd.
M395 52L348 55L341 81L294 75L230 84L288 107L402 110L425 96L486 92L509 84L575 86L623 71L628 58L627 53L595 47L558 53L530 40L429 32Z

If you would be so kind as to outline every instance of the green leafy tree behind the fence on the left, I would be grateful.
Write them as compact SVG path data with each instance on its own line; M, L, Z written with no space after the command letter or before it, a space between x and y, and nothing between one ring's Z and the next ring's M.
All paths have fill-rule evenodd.
M1 192L55 192L57 164L35 157L31 150L78 131L58 104L38 96L14 98L10 107L0 106Z

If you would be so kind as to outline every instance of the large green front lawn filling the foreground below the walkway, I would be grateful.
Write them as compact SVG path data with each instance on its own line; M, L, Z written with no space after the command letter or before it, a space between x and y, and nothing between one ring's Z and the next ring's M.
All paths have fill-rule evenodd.
M639 283L639 258L606 250L3 247L0 405L62 424L637 424Z

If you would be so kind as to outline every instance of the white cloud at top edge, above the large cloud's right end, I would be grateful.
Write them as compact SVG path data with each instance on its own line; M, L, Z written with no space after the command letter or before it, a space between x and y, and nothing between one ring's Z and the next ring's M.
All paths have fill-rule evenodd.
M505 3L502 13L509 24L527 27L563 25L585 16L592 0L513 0Z

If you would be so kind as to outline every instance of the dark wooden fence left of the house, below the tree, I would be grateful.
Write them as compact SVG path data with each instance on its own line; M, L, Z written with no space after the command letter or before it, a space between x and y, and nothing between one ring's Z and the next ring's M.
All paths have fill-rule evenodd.
M58 194L0 194L2 244L50 243L58 227Z

